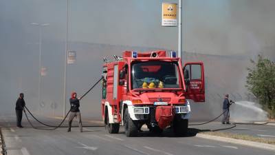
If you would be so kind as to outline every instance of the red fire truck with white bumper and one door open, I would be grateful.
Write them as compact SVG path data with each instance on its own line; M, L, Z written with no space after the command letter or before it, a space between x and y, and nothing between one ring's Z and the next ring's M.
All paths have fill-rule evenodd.
M204 102L203 63L181 65L176 52L132 52L104 59L102 69L102 118L111 134L124 126L126 136L136 136L142 125L160 133L173 127L186 133L189 99Z

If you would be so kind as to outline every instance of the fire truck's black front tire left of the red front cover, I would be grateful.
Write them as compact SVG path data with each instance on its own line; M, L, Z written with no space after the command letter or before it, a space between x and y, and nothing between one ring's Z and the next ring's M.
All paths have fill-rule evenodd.
M124 115L124 127L126 136L136 136L137 134L137 126L133 122L128 112L128 108L125 110Z

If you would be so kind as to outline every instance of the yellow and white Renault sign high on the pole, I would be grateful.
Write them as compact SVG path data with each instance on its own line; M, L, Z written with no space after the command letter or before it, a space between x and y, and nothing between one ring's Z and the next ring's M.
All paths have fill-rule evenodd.
M177 3L162 3L162 26L177 26Z

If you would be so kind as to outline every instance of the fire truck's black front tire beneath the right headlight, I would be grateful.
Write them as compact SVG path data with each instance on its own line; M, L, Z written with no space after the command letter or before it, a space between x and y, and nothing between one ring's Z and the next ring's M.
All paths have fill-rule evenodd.
M175 117L173 121L173 130L176 136L186 135L188 130L188 119L181 119L180 117Z

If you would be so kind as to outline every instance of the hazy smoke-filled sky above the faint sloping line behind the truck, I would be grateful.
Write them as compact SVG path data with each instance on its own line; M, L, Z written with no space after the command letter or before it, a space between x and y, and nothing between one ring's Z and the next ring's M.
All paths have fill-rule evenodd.
M177 3L70 0L69 41L177 50L177 28L161 26L162 2ZM23 33L21 37L30 41L38 31L30 23L50 23L43 28L43 39L65 41L67 1L0 3L2 27L18 31L12 35ZM272 0L184 0L183 49L203 54L244 54L273 48L274 5Z

